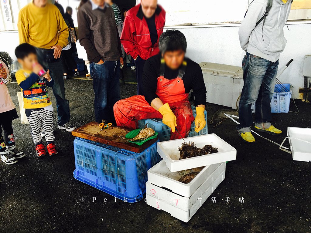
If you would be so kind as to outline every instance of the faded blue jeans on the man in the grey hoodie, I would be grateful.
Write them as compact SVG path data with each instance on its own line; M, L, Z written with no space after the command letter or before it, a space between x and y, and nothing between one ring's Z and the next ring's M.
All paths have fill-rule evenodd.
M256 102L255 126L267 129L271 126L271 99L274 93L276 72L279 61L270 62L261 57L246 53L243 59L243 79L239 104L239 133L251 131L253 117L251 106Z

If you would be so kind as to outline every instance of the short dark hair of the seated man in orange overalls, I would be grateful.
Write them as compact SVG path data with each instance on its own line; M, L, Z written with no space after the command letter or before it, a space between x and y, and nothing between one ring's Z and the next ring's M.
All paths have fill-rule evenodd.
M182 49L186 52L187 41L184 34L178 30L167 30L162 33L159 39L159 49L161 53Z

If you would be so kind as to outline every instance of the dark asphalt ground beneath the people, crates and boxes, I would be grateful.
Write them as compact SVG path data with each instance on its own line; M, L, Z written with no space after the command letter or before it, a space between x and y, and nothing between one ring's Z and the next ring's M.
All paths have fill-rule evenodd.
M18 108L19 88L16 83L8 87ZM94 121L92 81L66 80L65 88L72 123L82 126ZM56 126L55 98L49 91ZM121 86L122 98L135 93L136 85ZM284 133L265 135L267 138L281 143L287 126L310 127L310 104L300 100L296 103L299 113L273 114L273 125ZM290 104L290 110L295 111L292 100ZM214 112L225 108L207 103L208 123ZM115 201L109 194L75 180L74 137L57 127L54 132L58 155L37 158L29 125L21 125L16 119L16 145L27 156L11 166L0 162L0 232L310 233L311 163L293 161L290 154L257 136L255 144L246 144L235 127L230 119L216 127L208 125L209 133L237 149L237 159L227 163L226 178L211 195L216 197L216 203L207 199L184 223L148 206L144 200ZM244 203L239 202L240 197Z

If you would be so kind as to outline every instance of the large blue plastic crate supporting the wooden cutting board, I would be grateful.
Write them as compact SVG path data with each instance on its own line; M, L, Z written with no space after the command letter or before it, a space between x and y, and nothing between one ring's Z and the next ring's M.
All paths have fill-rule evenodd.
M127 202L146 193L147 170L160 162L156 143L141 153L76 138L73 177Z

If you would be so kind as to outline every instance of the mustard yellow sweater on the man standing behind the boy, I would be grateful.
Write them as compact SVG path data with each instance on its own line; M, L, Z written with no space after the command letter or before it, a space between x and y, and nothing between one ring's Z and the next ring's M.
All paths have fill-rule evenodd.
M20 43L47 49L57 44L64 48L68 44L68 26L53 4L36 7L29 3L20 10L17 26Z

